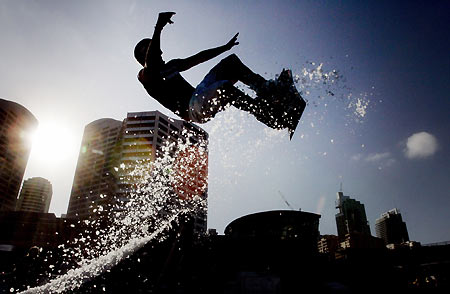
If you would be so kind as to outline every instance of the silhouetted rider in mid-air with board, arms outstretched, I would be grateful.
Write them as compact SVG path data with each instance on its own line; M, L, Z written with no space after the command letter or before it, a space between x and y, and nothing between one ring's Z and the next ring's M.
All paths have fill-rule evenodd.
M231 54L214 66L196 88L180 75L180 72L217 57L238 45L239 33L225 45L201 51L185 59L164 62L160 48L161 31L167 24L173 24L171 18L174 14L175 12L160 13L152 39L141 40L134 50L136 60L143 66L138 79L150 96L186 121L205 123L228 105L233 105L253 114L272 128L292 127L280 123L280 120L274 120L273 115L269 117L270 111L268 112L274 110L271 102L277 100L275 99L275 96L279 96L277 93L280 91L287 93L286 89L295 90L290 71L283 71L277 80L267 81L251 71L235 54ZM282 77L285 83L280 80ZM234 84L238 81L254 90L257 98L253 99L237 89ZM303 101L296 90L295 93ZM304 106L300 108L301 112L292 133Z

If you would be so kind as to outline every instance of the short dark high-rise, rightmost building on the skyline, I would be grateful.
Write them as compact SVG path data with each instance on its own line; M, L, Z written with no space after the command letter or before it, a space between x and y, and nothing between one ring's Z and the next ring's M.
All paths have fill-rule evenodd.
M409 241L406 223L397 208L381 214L375 221L377 237L382 238L386 244L401 244Z

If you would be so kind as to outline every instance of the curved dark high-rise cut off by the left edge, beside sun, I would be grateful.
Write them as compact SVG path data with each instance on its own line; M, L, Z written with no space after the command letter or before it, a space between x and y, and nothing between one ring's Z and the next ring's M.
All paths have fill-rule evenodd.
M25 107L0 99L0 210L14 211L38 121Z

